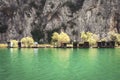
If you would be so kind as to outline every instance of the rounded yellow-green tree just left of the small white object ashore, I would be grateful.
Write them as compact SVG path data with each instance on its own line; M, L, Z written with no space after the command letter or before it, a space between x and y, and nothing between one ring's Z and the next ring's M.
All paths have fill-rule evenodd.
M21 42L25 47L30 47L34 44L34 40L32 37L24 37L21 39Z

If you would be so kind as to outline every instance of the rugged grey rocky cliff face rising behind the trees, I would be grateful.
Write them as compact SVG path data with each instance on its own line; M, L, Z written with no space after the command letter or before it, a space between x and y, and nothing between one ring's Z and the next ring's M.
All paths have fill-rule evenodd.
M33 36L50 42L54 31L80 40L81 31L100 38L120 33L120 0L0 0L0 42Z

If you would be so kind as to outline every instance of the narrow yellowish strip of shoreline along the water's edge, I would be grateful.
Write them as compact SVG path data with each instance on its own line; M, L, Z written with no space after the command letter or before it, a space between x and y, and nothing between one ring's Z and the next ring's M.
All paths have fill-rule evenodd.
M98 47L97 45L95 45L95 46L89 46L89 47L81 47L81 46L74 46L73 44L67 44L66 46L54 46L52 44L38 44L38 45L30 45L29 47L28 46L24 46L24 45L22 45L21 47L18 47L18 46L10 47L7 44L0 44L0 48L80 48L80 49L89 49L89 48L101 49L101 48L107 48L107 49L110 49L110 48L120 48L120 46Z

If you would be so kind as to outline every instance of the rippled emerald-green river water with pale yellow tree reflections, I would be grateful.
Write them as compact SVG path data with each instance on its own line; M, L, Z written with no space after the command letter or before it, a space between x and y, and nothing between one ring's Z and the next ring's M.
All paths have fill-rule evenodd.
M120 49L0 49L0 80L120 80Z

